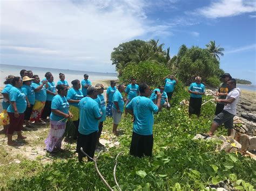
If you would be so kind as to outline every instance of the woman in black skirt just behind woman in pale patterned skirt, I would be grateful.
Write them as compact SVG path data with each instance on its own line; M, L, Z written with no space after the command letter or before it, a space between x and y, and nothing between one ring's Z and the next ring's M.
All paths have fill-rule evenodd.
M51 101L52 98L57 95L56 93L56 86L55 83L53 82L53 75L52 74L45 74L47 83L48 83L48 88L46 89L46 101L44 105L44 110L42 113L42 119L46 121L47 117L50 117L51 114Z

